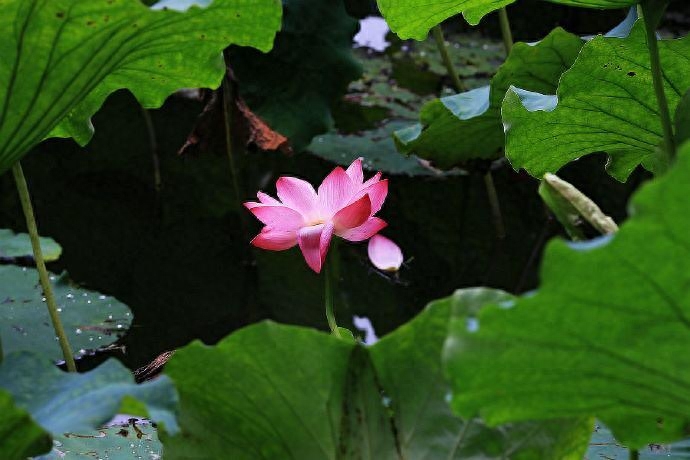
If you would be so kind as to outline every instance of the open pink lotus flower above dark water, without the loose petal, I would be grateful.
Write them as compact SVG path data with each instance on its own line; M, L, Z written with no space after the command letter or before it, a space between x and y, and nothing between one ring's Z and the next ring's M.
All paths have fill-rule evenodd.
M333 235L365 241L387 225L374 215L386 199L388 181L381 180L378 172L365 182L361 159L347 170L335 168L318 192L295 177L281 177L276 188L280 201L259 192L258 202L244 204L265 224L252 244L272 251L299 245L316 273L323 267Z

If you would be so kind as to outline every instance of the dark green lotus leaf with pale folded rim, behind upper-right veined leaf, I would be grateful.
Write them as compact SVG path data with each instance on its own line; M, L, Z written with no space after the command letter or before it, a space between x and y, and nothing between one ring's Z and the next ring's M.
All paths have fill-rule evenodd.
M583 43L561 28L537 44L517 43L490 86L427 103L420 113L421 124L396 131L398 149L441 168L474 158L497 158L504 143L501 102L508 88L555 92Z

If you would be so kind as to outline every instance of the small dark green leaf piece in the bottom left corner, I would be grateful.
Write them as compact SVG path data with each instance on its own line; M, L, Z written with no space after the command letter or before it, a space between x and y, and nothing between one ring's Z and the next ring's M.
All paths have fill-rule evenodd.
M0 458L27 458L46 452L51 445L48 433L14 405L9 393L0 390Z

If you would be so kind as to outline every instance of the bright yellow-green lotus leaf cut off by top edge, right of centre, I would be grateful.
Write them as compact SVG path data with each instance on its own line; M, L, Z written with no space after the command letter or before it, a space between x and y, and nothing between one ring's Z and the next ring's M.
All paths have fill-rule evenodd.
M484 15L515 0L377 0L391 30L400 38L424 40L429 30L462 13L467 22L479 24Z

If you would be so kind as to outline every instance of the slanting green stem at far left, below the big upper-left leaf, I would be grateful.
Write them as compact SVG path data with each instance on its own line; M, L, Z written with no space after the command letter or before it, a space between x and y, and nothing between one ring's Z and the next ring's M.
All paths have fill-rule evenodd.
M72 347L69 344L67 334L65 334L65 328L62 326L62 321L60 320L57 302L55 301L55 294L53 293L53 286L50 284L50 277L48 275L48 270L46 269L45 260L43 259L43 252L41 251L41 243L38 236L38 227L36 226L36 216L34 215L33 206L31 205L31 196L29 195L29 187L26 184L24 171L22 171L22 165L19 162L16 162L12 167L12 174L14 175L14 181L17 184L19 200L22 203L22 210L24 211L24 217L26 218L26 227L31 238L31 247L33 248L34 260L36 261L36 268L38 269L38 277L41 282L41 288L43 288L43 296L46 299L48 314L50 315L50 320L53 323L53 329L55 329L55 335L57 335L60 348L62 349L62 355L65 358L67 370L69 372L76 372L77 365L74 362Z

